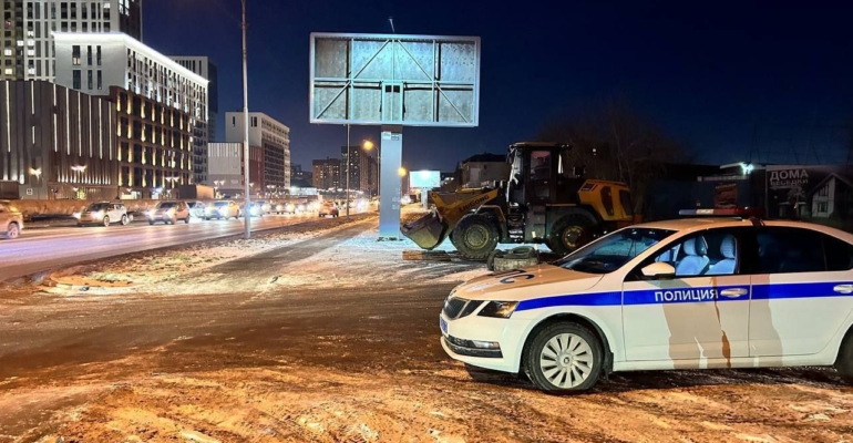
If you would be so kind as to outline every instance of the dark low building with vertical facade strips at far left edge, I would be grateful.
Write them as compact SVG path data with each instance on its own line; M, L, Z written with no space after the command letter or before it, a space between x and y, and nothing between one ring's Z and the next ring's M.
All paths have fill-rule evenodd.
M45 81L0 81L0 179L23 198L119 195L116 106Z

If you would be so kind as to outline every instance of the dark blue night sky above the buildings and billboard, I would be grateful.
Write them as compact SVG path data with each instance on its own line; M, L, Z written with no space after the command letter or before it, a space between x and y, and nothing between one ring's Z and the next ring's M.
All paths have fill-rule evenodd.
M144 1L146 44L218 65L218 141L224 113L241 109L239 3ZM608 96L627 97L713 164L749 159L759 132L791 138L853 122L851 2L598 3L248 0L249 107L290 127L294 163L339 156L346 127L308 123L309 33L390 33L392 16L398 33L483 44L480 127L404 128L410 169L503 153ZM353 144L362 138L378 141L379 127L353 126Z

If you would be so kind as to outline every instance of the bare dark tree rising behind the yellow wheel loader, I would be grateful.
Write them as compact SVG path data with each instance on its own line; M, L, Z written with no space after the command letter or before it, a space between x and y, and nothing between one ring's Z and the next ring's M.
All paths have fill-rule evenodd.
M645 208L649 186L667 166L688 159L684 143L619 99L607 100L582 116L551 122L539 140L569 143L575 165L584 166L588 178L627 183L635 213Z

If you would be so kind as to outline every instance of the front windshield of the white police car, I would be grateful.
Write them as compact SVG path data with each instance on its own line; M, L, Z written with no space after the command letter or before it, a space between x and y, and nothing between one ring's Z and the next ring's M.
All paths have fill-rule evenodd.
M617 230L569 254L557 262L565 269L587 274L609 274L675 230L627 228Z

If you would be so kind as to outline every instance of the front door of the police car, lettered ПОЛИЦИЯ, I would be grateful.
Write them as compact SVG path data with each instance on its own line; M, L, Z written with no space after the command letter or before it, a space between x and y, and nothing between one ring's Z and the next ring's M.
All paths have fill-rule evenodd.
M740 271L744 228L710 228L669 240L661 253L631 270L623 286L626 359L680 361L749 354L750 276ZM645 277L665 261L675 276ZM676 365L674 365L675 368Z

